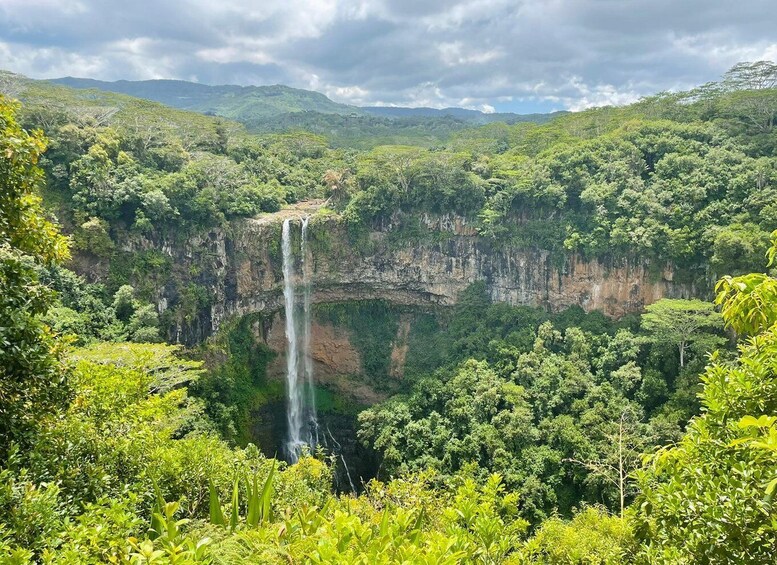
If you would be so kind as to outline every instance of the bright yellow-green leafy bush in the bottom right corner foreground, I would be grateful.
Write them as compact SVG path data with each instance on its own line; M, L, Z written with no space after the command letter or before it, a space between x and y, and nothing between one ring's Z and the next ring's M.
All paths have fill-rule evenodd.
M751 441L751 422L740 421L777 412L775 359L777 335L769 330L741 346L735 364L714 360L702 376L703 415L640 475L638 532L652 558L773 560L777 513L765 493L777 460Z

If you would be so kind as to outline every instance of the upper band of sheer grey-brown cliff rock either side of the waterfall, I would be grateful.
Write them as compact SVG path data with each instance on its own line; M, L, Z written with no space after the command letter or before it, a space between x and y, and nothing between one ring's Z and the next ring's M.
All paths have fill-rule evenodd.
M165 246L174 264L196 268L200 284L212 293L209 307L180 321L171 337L193 343L231 316L281 310L281 222L286 217L301 220L314 211L287 210L236 223L229 233L215 230L183 246ZM307 258L313 302L384 299L404 305L452 305L467 286L484 281L495 301L554 311L579 305L617 317L662 297L697 294L693 286L673 280L669 265L640 259L584 260L573 254L553 257L547 251L478 237L461 218L427 217L424 222L434 237L402 243L388 228L369 233L357 245L337 218L314 216ZM160 289L161 308L175 300L168 289Z

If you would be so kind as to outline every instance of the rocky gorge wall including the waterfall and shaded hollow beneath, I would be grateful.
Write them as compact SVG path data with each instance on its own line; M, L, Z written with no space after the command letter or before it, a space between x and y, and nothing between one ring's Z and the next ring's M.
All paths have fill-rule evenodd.
M408 355L412 361L413 349L422 347L419 324L445 323L445 313L473 284L483 284L496 303L550 312L574 306L613 318L663 297L702 292L676 280L669 264L500 246L452 215L424 215L420 237L408 239L391 223L354 235L322 204L301 202L186 240L138 240L127 250L153 245L180 272L197 267L193 281L207 288L209 303L172 326L172 339L192 346L234 320L257 320L251 340L273 355L266 378L285 383L285 399L270 396L252 413L248 438L290 461L303 447L337 448L345 489L349 466L355 480L376 469L374 455L356 442L356 413L402 390ZM160 309L176 303L171 273L155 291ZM381 325L380 337L364 345L364 334L376 330L362 320L372 319ZM320 414L317 394L329 406ZM327 400L332 396L339 408Z

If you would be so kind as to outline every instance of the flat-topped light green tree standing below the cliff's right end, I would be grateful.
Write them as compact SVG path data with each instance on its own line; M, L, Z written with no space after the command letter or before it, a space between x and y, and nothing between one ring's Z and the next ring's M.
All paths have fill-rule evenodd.
M721 340L709 331L722 327L715 305L701 300L663 298L645 308L642 329L654 342L671 344L680 352L680 367L685 366L685 352L691 345L712 348Z

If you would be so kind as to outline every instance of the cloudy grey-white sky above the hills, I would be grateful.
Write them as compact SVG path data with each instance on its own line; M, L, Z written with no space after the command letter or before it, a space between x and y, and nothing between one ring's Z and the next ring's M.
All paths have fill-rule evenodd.
M0 68L532 112L777 60L775 24L777 0L0 0Z

